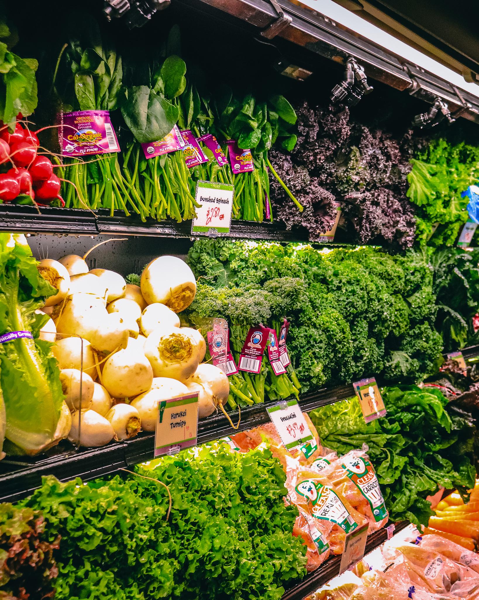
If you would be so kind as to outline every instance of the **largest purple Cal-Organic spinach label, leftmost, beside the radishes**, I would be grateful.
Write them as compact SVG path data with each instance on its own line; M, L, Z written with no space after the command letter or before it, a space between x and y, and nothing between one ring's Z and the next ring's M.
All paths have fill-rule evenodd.
M62 113L59 130L63 156L120 152L108 110Z

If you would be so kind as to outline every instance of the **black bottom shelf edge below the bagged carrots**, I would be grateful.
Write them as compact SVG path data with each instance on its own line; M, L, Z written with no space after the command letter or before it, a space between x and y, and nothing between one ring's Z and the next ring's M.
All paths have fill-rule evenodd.
M396 523L395 532L399 532L405 527L408 526L408 521L401 521L401 523ZM387 531L386 528L378 529L374 533L368 536L366 541L366 550L365 555L377 548L381 544L383 544L387 540ZM296 584L290 589L284 592L281 600L302 600L308 594L316 592L317 589L324 586L328 581L331 581L333 577L339 575L339 566L341 565L341 555L333 556L332 558L326 560L323 565L309 573L304 580L300 583Z

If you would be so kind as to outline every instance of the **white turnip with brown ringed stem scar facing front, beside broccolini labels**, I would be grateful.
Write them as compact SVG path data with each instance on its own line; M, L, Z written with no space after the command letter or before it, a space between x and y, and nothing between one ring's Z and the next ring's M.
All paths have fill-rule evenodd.
M156 329L148 335L144 351L155 377L183 381L198 368L198 341L188 327Z

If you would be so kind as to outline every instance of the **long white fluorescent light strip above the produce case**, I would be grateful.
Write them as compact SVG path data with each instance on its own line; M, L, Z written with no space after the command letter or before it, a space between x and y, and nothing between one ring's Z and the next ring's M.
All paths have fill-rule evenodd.
M438 77L442 77L447 82L451 83L451 85L455 85L457 88L464 89L468 91L470 94L479 98L479 86L475 83L466 82L462 75L456 73L456 71L451 70L444 65L441 65L440 62L435 61L433 58L426 56L419 50L411 48L401 40L396 39L393 35L386 33L382 29L372 25L368 21L362 19L357 16L357 14L348 11L346 8L339 6L332 0L301 0L301 4L304 4L313 10L317 11L317 13L323 14L329 19L334 20L341 25L344 25L348 29L356 32L357 34L362 35L368 40L371 40L373 43L378 44L378 46L383 47L386 50L390 50L397 54L398 56L402 56L406 61L412 62L414 65L429 71Z

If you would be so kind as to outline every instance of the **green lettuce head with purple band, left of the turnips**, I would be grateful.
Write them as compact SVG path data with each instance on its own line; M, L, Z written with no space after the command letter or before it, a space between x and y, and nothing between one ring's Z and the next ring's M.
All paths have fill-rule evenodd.
M35 310L54 291L39 274L25 236L0 233L0 335L38 332ZM5 437L23 454L37 454L52 442L60 416L63 392L50 345L29 338L0 344Z

